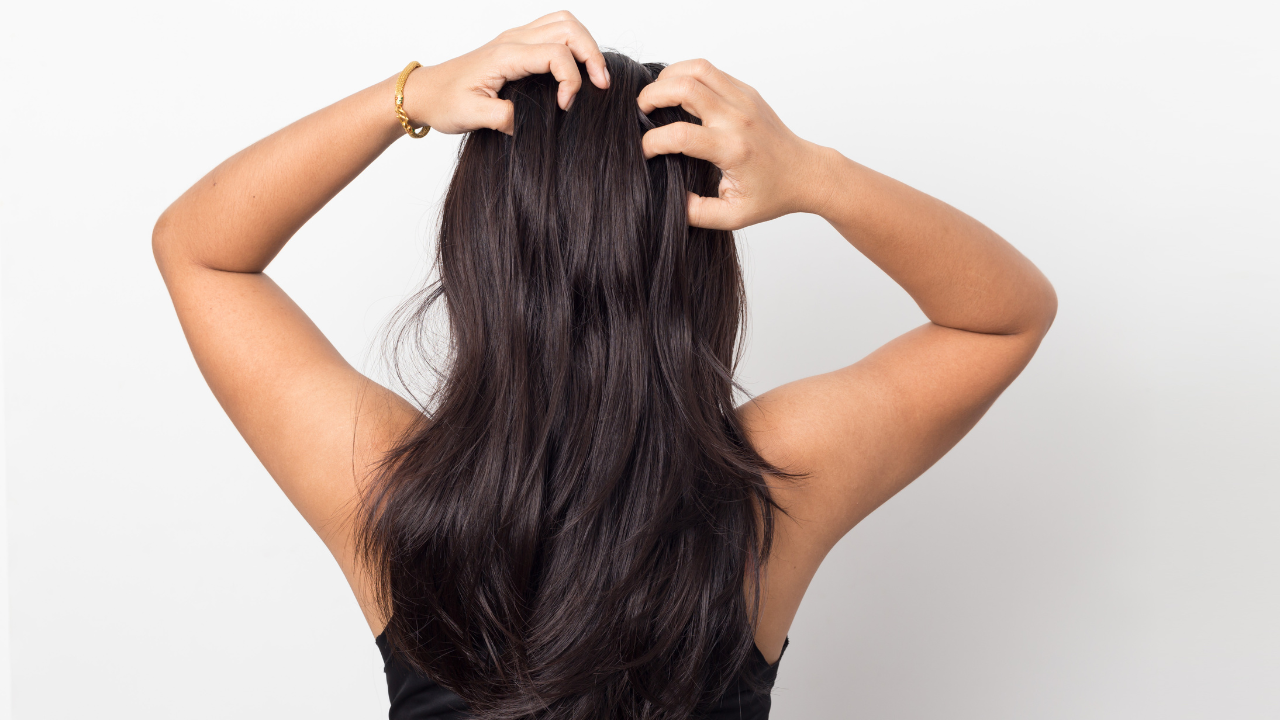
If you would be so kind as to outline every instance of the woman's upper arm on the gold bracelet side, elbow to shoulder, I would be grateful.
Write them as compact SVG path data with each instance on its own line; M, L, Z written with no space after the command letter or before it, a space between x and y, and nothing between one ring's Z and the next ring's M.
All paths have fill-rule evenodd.
M253 454L351 577L358 488L420 416L352 368L264 273L156 261L205 380Z

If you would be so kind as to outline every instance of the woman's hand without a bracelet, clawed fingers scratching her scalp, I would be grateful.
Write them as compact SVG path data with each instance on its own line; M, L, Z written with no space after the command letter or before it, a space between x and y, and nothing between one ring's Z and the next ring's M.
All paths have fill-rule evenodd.
M680 105L701 120L644 136L645 158L680 152L723 173L719 197L689 196L689 224L735 231L788 213L818 213L829 195L822 168L835 151L791 132L751 86L707 60L668 65L640 91L645 114Z

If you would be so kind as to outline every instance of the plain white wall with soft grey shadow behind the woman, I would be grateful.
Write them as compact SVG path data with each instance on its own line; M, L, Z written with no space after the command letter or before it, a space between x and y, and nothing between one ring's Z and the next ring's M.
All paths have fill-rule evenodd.
M712 59L801 136L986 222L1060 296L988 416L829 556L774 717L1280 716L1268 5L570 6L641 60ZM241 147L556 9L4 6L14 717L385 716L369 629L204 384L150 232ZM397 142L269 269L375 375L457 142ZM923 322L818 218L741 238L753 391Z

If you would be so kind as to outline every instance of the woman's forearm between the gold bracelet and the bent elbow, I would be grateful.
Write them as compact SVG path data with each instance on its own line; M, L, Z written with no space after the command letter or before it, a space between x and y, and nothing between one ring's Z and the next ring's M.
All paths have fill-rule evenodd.
M223 161L169 206L156 259L261 272L293 236L399 136L396 78L351 95Z

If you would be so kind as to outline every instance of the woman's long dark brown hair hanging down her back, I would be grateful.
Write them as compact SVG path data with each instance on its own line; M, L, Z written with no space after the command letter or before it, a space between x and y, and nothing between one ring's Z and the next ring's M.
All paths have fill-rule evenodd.
M719 170L646 161L646 129L698 120L640 113L663 65L605 59L568 111L550 76L503 87L515 136L465 140L439 278L394 334L417 352L443 301L443 382L367 488L360 552L392 652L479 717L686 717L754 647L782 474L735 413L733 236L685 214Z

